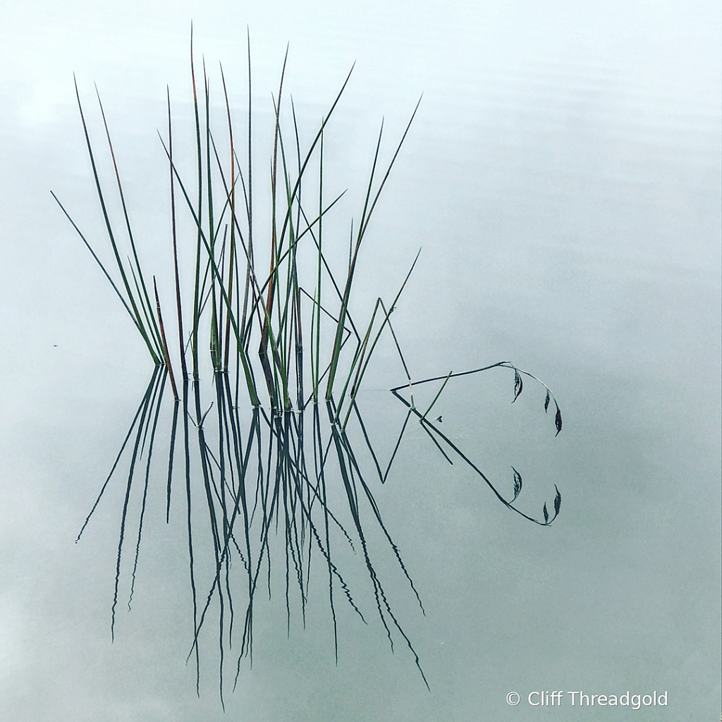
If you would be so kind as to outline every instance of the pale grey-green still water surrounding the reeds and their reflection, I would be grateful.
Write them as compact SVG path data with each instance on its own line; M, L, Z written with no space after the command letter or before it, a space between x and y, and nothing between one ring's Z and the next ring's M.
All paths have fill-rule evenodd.
M334 667L319 598L290 640L280 606L267 629L259 619L257 638L269 636L225 718L716 719L718 6L273 5L24 4L0 30L0 717L224 718L210 663L200 700L184 666L181 531L160 513L147 527L152 551L113 645L119 487L73 544L151 369L48 193L100 233L75 70L89 103L97 80L128 182L142 183L131 203L136 225L147 224L147 258L167 261L155 128L166 82L187 100L192 17L198 52L209 67L224 63L239 97L251 26L259 108L290 40L287 87L310 124L357 60L329 145L337 182L356 199L381 116L398 136L425 92L378 209L358 303L391 295L421 245L395 314L414 378L508 359L549 383L565 412L554 439L543 395L529 385L511 407L501 375L460 383L439 406L484 469L523 466L530 505L560 487L551 529L510 515L419 433L378 492L425 602L424 618L401 583L389 586L430 692L378 623L351 614ZM375 389L403 373L391 357L376 373L366 403L383 444L403 414ZM567 697L531 708L526 695L542 689L666 690L669 705L579 710Z

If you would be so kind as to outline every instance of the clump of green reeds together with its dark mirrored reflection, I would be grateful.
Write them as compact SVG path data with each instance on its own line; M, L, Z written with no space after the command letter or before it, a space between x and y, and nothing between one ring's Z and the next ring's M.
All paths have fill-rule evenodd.
M289 619L292 588L296 590L302 616L305 614L310 560L313 554L318 554L328 579L328 603L336 660L336 605L339 599L350 604L365 621L342 570L334 561L334 540L342 541L362 557L376 612L392 648L395 637L404 640L423 677L417 653L391 609L375 568L373 549L367 542L369 524L375 525L386 538L419 606L421 601L399 549L383 521L370 478L362 469L364 463L360 459L362 451L373 460L372 473L383 483L412 415L448 461L451 461L449 454L462 458L484 479L503 504L521 516L548 525L559 513L561 503L557 490L552 518L549 518L547 505L543 509L544 521L523 513L514 505L522 484L521 475L516 469L513 470L513 498L508 500L478 466L443 435L438 425L430 421L428 415L432 406L452 378L495 367L511 369L514 371L516 401L523 388L521 375L526 372L516 369L509 362L500 362L464 373L412 381L391 325L391 313L409 279L415 260L391 303L384 303L378 298L365 321L359 322L352 317L349 300L356 280L360 248L416 110L396 144L391 160L380 169L382 123L360 217L355 224L351 224L348 263L341 272L334 271L327 249L337 246L339 239L328 238L324 232L324 219L340 196L326 199L323 186L323 142L329 119L342 97L350 73L312 142L302 151L292 103L291 131L286 131L282 123L282 105L287 102L283 87L284 71L285 60L278 92L274 97L270 231L269 237L259 239L258 222L253 216L255 178L251 152L253 113L250 43L248 116L244 139L239 144L222 69L220 76L227 131L222 142L212 132L209 77L204 66L201 82L196 82L191 39L196 139L194 178L183 178L178 171L177 152L173 146L170 93L168 129L161 136L170 178L170 240L173 245L175 313L168 313L166 309L164 316L156 278L153 277L151 283L147 274L144 274L126 209L108 123L98 95L125 226L123 232L117 232L113 227L77 85L78 107L87 151L115 261L112 267L103 264L61 205L131 316L155 364L155 371L118 457L78 539L100 503L124 451L130 448L116 560L111 621L113 633L121 581L121 558L129 544L126 533L129 531L131 494L138 485L136 479L141 478L142 491L136 492L140 495L141 505L134 534L132 596L151 479L152 453L157 446L160 411L167 381L170 380L173 415L168 455L163 454L167 458L165 516L166 521L169 521L172 492L175 485L181 483L193 601L193 627L188 657L195 658L197 688L199 635L207 625L209 613L213 611L217 614L221 699L225 684L225 658L232 644L238 643L240 638L240 644L236 646L239 651L235 653L235 680L238 680L241 661L251 656L254 600L261 586L266 583L270 586L271 565L277 563L277 557L274 557L277 547L273 539L278 538L282 540L279 544L282 549L280 563L284 569L284 593ZM193 231L190 236L178 232L176 219L181 213L192 219ZM129 253L121 252L121 235L127 237L127 243L123 241L123 244ZM348 243L346 239L341 242ZM190 279L181 279L178 258L190 253L194 257L193 275ZM310 257L312 263L300 264L302 254L306 258ZM300 270L302 267L306 269L305 275ZM309 267L313 268L310 274ZM175 323L169 326L172 317ZM171 326L174 326L173 329ZM388 464L383 464L385 469L382 469L357 406L357 393L384 333L391 334L406 370L404 386L391 391L406 404L408 412L391 458ZM169 345L169 339L175 340ZM212 383L201 383L204 359L206 363L210 362ZM419 412L414 405L414 386L438 381L443 383L432 404L425 412ZM409 389L408 400L399 393L402 388ZM552 400L553 396L547 388L545 409L549 408ZM562 419L556 401L554 404L558 433ZM355 425L360 430L359 439L363 439L361 451L357 448L358 443L352 442L349 437L349 425ZM177 444L178 435L181 440ZM139 468L143 469L140 474L136 473ZM331 502L331 497L338 497L336 491L339 489L344 500L341 506ZM207 526L200 530L196 516L199 505L205 510L208 521ZM207 573L208 558L212 569L210 575ZM236 622L239 598L243 599L240 606L243 622L240 625ZM425 677L423 679L426 682Z

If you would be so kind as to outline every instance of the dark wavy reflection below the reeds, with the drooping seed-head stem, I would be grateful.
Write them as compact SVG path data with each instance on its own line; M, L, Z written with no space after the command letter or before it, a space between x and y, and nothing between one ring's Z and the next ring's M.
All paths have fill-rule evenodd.
M413 398L415 386L440 379L443 379L445 385L450 377L479 373L497 367L514 370L516 401L522 387L520 374L525 372L517 370L508 362L500 362L466 373L425 379L410 383L408 388ZM110 469L110 474L105 479L78 535L80 539L111 477L118 470L123 453L126 453L130 461L127 466L126 490L118 539L111 633L115 625L121 583L121 559L124 549L126 554L128 553L129 545L133 554L128 599L128 607L131 608L151 479L151 462L154 448L157 446L156 432L159 427L164 391L168 388L168 378L168 368L157 365ZM552 523L560 511L559 490L554 498L554 513L551 518L546 503L542 512L544 521L527 516L517 508L514 503L521 492L522 479L516 469L513 469L513 497L507 500L474 461L444 435L439 427L440 421L437 419L437 422L431 422L427 419L427 414L440 392L427 411L422 414L416 406L401 396L399 391L402 387L391 390L394 396L408 407L408 412L401 425L393 453L386 461L380 460L375 452L355 401L351 403L356 424L351 425L342 425L339 422L339 408L333 398L327 400L325 404L311 404L309 399L302 409L275 410L270 414L262 406L255 406L251 409L250 417L246 414L242 418L243 414L237 403L238 398L230 383L229 374L217 371L214 373L214 400L205 412L199 414L199 410L204 408L201 386L199 382L191 382L188 379L183 381L182 398L172 400L173 419L170 423L168 443L162 444L162 449L156 449L156 456L162 454L161 458L165 458L165 454L168 454L165 513L168 522L173 491L174 458L177 453L176 438L178 433L182 434L183 471L179 474L176 464L175 480L177 485L180 475L184 482L181 495L185 503L188 568L193 598L193 643L188 658L191 656L195 658L196 686L198 686L199 635L208 621L209 614L217 614L221 698L224 689L225 656L232 649L234 635L239 634L236 610L245 609L241 612L243 625L240 632L240 652L235 659L235 681L238 679L241 660L244 657L252 657L253 600L266 582L270 593L272 565L282 564L287 623L290 629L292 596L295 596L295 602L300 605L300 613L305 619L310 561L314 550L321 554L322 563L326 566L328 574L328 601L334 628L336 658L338 637L335 604L339 597L352 607L363 622L366 621L354 601L351 588L344 580L342 570L339 570L334 562L336 555L332 549L334 542L338 544L339 541L347 544L353 552L361 553L373 589L376 611L386 630L392 650L393 637L399 635L414 656L415 664L426 682L419 657L414 651L411 640L399 625L384 592L380 575L375 569L373 549L367 542L369 536L367 529L370 524L377 525L386 538L401 573L412 588L419 608L423 612L422 601L401 559L399 549L383 522L380 508L368 482L369 474L362 470L365 466L363 453L367 456L367 461L373 460L373 467L367 465L375 469L380 482L386 481L412 415L418 419L419 425L432 440L435 448L450 464L453 464L453 461L449 454L461 458L484 479L496 497L508 508L542 526ZM547 390L545 402L547 407L550 397L551 394ZM195 412L192 406L195 407ZM326 407L326 418L321 412L321 406ZM178 429L179 412L183 417L182 431ZM555 420L557 430L560 430L561 414L558 406ZM200 474L198 474L199 468ZM202 479L201 488L196 486L197 482L193 483L193 479L197 476ZM332 494L329 492L329 484L339 481L344 492L345 506L334 505L330 500ZM135 486L134 482L136 482ZM139 485L142 491L138 490ZM139 502L135 505L131 503L132 494L139 497ZM199 523L197 513L194 511L196 505L207 514L206 523ZM137 521L133 523L129 515L131 506L139 508ZM126 539L126 535L131 533L131 538ZM274 545L274 538L282 539L280 546ZM212 558L213 571L210 575L206 554L211 554ZM243 606L240 607L239 597L243 599Z

